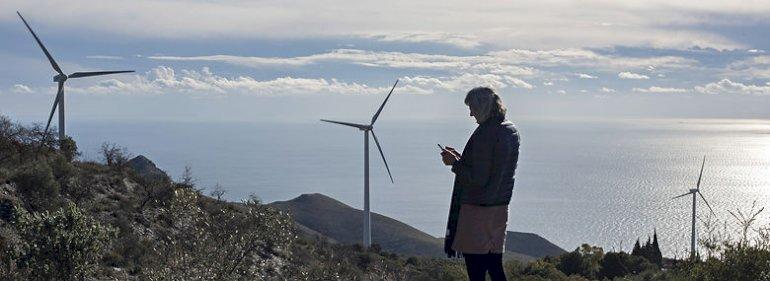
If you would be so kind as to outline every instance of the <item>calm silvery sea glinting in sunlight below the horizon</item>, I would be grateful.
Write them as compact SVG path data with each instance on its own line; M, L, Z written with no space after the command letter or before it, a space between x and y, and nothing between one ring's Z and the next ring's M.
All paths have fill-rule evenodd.
M707 155L702 192L716 211L770 202L770 122L757 120L514 120L522 134L508 229L565 249L590 243L629 250L657 229L667 256L689 248L690 197ZM372 209L431 235L446 223L453 176L436 143L462 148L470 120L380 121L387 178L371 142ZM200 187L219 183L231 200L266 202L323 193L360 208L363 134L323 123L106 123L73 121L83 158L109 141L178 177L191 166ZM699 199L700 200L700 199ZM698 202L699 215L707 208ZM768 223L764 214L760 223ZM375 241L376 242L376 241ZM644 242L644 241L642 241Z

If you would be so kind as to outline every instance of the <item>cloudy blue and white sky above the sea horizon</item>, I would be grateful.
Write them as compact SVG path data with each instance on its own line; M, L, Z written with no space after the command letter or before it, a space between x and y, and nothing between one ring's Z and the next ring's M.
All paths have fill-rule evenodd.
M45 122L55 74L86 120L770 118L770 1L0 2L0 114Z

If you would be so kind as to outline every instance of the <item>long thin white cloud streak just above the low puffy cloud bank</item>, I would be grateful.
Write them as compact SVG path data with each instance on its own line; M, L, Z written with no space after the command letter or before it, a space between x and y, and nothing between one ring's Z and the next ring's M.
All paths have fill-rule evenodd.
M656 66L663 69L691 68L697 61L677 56L623 57L599 54L583 49L523 50L509 49L476 56L337 49L326 53L297 57L255 57L233 55L150 56L164 61L221 62L253 68L300 67L321 63L348 63L380 68L412 68L448 72L493 73L531 76L543 67L590 67L596 71L620 71ZM583 78L587 78L584 74ZM593 77L593 76L591 76Z

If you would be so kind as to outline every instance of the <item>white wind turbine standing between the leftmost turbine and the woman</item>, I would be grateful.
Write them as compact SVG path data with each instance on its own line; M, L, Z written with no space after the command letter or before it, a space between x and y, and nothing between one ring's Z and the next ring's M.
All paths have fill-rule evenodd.
M385 97L385 101L383 101L382 105L380 105L380 109L378 109L377 113L372 116L372 121L369 123L369 125L321 119L321 121L324 122L350 126L364 131L364 248L367 249L372 245L372 223L369 212L369 133L372 133L374 143L377 144L377 149L380 151L380 156L382 156L382 162L385 163L385 169L388 170L390 182L393 183L393 175L390 174L388 161L385 160L385 154L382 153L380 142L377 140L377 136L374 134L374 122L376 122L377 117L380 116L380 112L382 112L382 109L385 107L385 103L388 102L390 95L393 94L393 90L396 89L396 85L398 85L398 80L396 80L396 83L393 84L393 88L390 89L390 93L388 93L388 96Z

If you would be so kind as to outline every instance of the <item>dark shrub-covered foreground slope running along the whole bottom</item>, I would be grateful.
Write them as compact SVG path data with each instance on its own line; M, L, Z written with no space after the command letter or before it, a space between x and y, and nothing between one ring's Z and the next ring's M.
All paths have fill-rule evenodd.
M78 161L74 141L54 139L0 116L0 280L467 280L462 260L301 238L256 197L203 195L190 169L176 182L138 172L114 144L103 163ZM655 235L630 254L582 245L504 267L512 280L770 280L763 209L733 215L705 222L695 262L664 260Z

